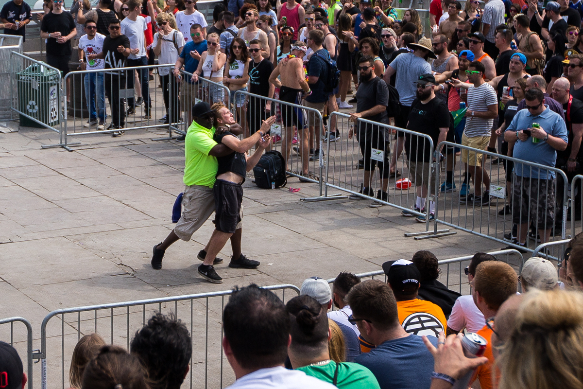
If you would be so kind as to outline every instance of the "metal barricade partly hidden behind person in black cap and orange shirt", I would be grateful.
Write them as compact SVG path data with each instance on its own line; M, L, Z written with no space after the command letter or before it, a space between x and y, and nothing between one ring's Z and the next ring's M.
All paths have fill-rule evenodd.
M514 248L510 248L507 250L497 250L497 251L490 251L490 255L494 255L498 259L498 261L506 262L507 264L512 265L512 267L517 269L517 274L522 272L522 265L524 264L524 257L522 254L515 250ZM448 258L447 260L440 260L437 261L440 265L440 277L437 281L440 281L448 289L454 290L451 287L454 286L458 289L459 293L468 295L471 293L470 284L468 282L468 276L465 275L464 268L469 265L470 261L472 260L472 255L464 255L463 257L455 257L455 258ZM517 257L515 260L511 261L511 255ZM464 266L465 265L465 266ZM444 269L445 271L441 271ZM445 280L443 278L445 273ZM382 270L375 270L366 273L360 273L356 275L360 278L360 281L367 281L368 279L381 279L381 281L387 282L387 276L385 275L384 271ZM330 278L326 281L330 284L332 288L332 283L336 278ZM462 289L463 287L463 289ZM335 308L332 308L335 309Z

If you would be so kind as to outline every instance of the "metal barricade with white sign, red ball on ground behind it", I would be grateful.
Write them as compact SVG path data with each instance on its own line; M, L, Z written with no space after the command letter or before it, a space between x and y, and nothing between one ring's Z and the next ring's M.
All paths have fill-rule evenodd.
M423 216L426 232L429 231L430 220L427 215L430 212L430 201L434 201L434 196L431 195L434 180L430 177L436 169L436 164L433 163L434 148L431 136L361 118L356 123L349 119L350 115L339 112L332 112L329 115L328 127L332 128L332 123L335 123L335 128L340 130L342 139L336 142L325 142L324 194L319 198L306 200L346 198L346 196L328 194L328 188L338 189L349 193L350 198L369 199L378 204L408 211L413 216ZM347 136L349 132L354 133L352 138ZM397 142L398 145L396 145ZM402 150L400 156L394 154L395 149ZM363 160L365 152L367 153L366 161ZM369 153L370 158L368 158ZM366 170L361 169L359 164L360 167L371 171L369 186L372 190L371 195L363 193L363 187L367 186L364 183ZM364 166L366 164L368 166ZM389 173L388 180L382 178L386 174L381 176L381 167L385 169L385 173L386 169L394 168L401 176L395 177L395 173ZM417 195L415 184L410 182L414 180L410 177L410 169L414 169L417 176L424 177L423 183L427 187L427 194L423 196L425 205L421 207L425 209L421 211L413 210L416 206ZM387 185L386 190L383 181ZM388 197L379 199L380 191L386 191ZM440 233L444 236L448 234L447 231L443 230ZM417 234L419 233L408 233L405 236Z

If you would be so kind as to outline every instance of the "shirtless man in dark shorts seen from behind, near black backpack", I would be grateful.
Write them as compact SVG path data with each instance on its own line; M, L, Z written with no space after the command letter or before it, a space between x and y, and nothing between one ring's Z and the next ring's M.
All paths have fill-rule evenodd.
M303 58L307 47L305 43L296 41L291 46L291 55L296 58L283 58L278 66L273 69L269 82L280 88L279 99L287 103L298 104L298 93L310 93L310 86L305 80ZM280 76L281 80L278 79ZM301 170L302 174L308 176L310 167L310 145L308 143L308 128L304 128L304 123L299 122L296 110L289 106L282 106L282 125L285 126L286 132L283 137L282 154L287 161L290 159L291 140L293 138L293 126L296 125L298 135L301 138ZM300 178L301 180L301 178Z

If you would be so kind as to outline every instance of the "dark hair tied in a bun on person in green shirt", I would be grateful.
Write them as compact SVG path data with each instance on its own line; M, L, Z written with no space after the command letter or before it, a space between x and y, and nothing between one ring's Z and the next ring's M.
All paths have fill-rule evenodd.
M303 295L286 304L291 324L291 346L320 348L328 342L328 317L313 297Z

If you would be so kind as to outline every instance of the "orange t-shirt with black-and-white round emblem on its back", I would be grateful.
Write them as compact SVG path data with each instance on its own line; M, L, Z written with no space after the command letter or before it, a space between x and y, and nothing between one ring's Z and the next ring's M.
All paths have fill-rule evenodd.
M411 334L432 335L437 338L447 328L443 310L432 302L420 299L398 301L397 309L399 322Z

